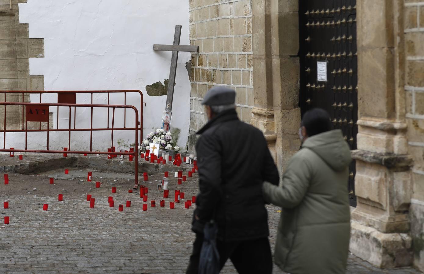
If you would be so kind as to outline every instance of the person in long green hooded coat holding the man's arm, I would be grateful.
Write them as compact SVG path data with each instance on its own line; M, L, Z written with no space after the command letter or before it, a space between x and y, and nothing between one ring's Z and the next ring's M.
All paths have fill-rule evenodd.
M351 154L341 130L330 130L325 110L304 114L301 150L279 186L268 182L265 201L282 207L275 263L290 274L345 273L349 252L348 176Z

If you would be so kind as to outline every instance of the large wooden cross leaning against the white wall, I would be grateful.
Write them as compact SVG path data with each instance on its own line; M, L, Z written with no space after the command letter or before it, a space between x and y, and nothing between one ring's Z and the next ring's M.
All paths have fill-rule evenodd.
M153 50L172 51L171 69L169 72L168 94L166 97L165 111L172 111L174 97L175 76L177 73L178 52L199 52L199 46L180 46L181 26L175 26L173 45L153 45Z

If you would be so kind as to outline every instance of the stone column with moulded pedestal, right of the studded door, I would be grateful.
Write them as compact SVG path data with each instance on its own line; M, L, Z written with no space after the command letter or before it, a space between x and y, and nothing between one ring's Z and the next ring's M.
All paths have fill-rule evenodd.
M357 1L357 207L350 250L382 268L412 263L402 2Z

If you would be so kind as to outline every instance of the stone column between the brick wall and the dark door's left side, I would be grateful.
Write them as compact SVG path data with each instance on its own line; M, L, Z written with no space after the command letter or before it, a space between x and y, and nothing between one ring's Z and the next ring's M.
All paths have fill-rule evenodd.
M283 1L284 2L284 1ZM254 109L279 170L298 150L298 1L252 0Z

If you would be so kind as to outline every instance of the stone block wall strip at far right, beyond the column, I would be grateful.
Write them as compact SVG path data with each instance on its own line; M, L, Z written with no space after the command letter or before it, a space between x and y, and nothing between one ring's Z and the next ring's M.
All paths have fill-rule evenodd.
M415 265L424 270L424 1L405 0L404 14L407 135L414 159L411 234Z

